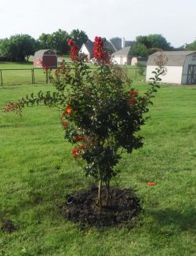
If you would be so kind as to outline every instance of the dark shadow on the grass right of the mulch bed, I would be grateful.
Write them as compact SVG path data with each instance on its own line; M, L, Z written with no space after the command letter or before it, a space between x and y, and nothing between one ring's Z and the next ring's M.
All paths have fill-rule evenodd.
M181 231L196 232L196 209L191 207L184 210L157 210L151 212L161 226L174 225Z

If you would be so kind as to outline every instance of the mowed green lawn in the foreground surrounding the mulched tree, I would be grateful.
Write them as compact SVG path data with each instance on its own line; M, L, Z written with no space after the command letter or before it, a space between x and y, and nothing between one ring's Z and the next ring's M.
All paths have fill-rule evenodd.
M2 86L0 108L41 89L53 90ZM18 231L0 230L0 255L196 255L195 95L195 86L162 86L141 130L143 148L119 164L112 185L133 188L143 206L134 228L80 230L63 218L65 196L92 181L72 159L60 112L42 105L25 108L22 118L1 112L0 223L10 219Z

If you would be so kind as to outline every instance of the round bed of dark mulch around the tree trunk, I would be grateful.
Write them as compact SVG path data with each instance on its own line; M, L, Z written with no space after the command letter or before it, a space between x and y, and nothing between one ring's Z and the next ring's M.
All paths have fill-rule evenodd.
M98 188L92 186L67 196L62 207L64 217L78 222L81 227L106 227L133 221L140 214L140 200L131 189L111 188L110 206L102 209L97 205L97 192ZM102 192L104 199L105 187Z

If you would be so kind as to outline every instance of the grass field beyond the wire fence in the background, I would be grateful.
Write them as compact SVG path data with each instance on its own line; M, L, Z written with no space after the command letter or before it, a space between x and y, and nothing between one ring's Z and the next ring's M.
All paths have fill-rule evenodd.
M92 68L92 70L96 68L96 66L94 66L93 64L89 64L89 66ZM31 84L32 68L35 67L31 61L25 63L0 61L0 72L2 73L2 75L0 73L0 86ZM140 81L144 79L145 72L142 72L142 68L136 68L135 66L126 66L126 68L132 80ZM34 82L35 84L46 83L45 74L42 68L34 69Z

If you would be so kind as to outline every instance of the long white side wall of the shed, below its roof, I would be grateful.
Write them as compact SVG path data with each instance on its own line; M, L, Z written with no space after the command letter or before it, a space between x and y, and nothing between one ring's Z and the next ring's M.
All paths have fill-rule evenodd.
M146 75L147 81L150 81L149 79L151 77L154 77L154 74L152 74L152 71L154 71L155 68L157 68L157 67L156 66L147 66L147 75ZM183 67L165 66L165 68L167 70L166 74L160 76L160 78L162 79L162 82L181 84Z

